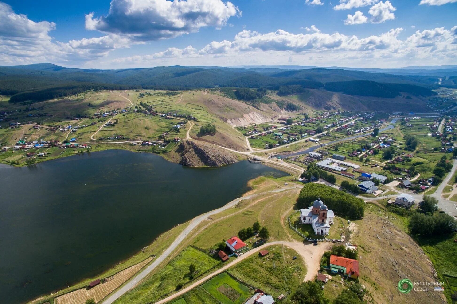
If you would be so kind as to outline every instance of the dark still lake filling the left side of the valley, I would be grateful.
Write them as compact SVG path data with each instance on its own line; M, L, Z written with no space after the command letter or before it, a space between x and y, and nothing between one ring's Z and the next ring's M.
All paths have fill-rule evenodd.
M189 168L152 153L0 165L0 299L16 304L94 277L160 233L287 173L247 161Z

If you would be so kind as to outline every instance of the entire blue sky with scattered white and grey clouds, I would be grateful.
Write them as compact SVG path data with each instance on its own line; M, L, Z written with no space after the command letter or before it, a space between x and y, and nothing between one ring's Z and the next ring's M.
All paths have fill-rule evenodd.
M3 1L0 65L457 64L457 0Z

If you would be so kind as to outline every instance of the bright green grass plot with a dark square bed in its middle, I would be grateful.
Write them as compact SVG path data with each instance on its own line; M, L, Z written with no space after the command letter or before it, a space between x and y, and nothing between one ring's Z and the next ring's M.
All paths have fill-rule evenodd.
M217 275L202 287L223 304L243 304L252 295L249 288L227 273Z

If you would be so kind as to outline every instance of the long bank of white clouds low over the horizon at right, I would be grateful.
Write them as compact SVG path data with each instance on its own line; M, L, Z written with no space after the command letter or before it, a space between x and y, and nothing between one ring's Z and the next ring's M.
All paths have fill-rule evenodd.
M180 49L146 56L119 58L117 63L140 66L228 65L233 64L287 64L290 62L313 65L390 66L421 64L452 64L457 56L457 26L416 31L399 39L402 28L368 37L335 33L311 32L293 34L283 30L259 33L240 31L232 41L211 42L199 51L185 55Z

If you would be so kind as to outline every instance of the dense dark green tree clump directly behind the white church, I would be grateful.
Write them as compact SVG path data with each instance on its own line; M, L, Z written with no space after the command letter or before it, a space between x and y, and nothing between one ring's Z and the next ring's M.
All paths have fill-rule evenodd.
M365 203L362 199L318 183L307 183L303 186L298 195L297 207L308 208L318 198L337 215L360 219L365 214Z

